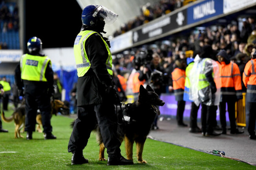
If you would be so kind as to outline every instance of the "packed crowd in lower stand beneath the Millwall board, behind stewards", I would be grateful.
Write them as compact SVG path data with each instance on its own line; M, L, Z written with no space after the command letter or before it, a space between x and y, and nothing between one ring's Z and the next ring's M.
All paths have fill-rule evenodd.
M240 30L236 24L205 27L201 30L192 31L192 33L186 38L179 37L172 40L155 42L151 45L143 46L131 51L124 51L123 54L115 55L115 59L113 60L115 69L121 71L119 74L121 74L127 80L126 95L131 94L131 91L132 93L136 92L133 89L129 90L129 88L133 88L129 84L131 75L133 75L135 72L145 75L145 67L148 69L151 67L159 71L161 70L163 75L165 75L164 77L168 81L162 83L160 93L172 93L172 72L175 68L180 67L177 65L177 61L180 61L180 59L186 59L186 57L192 57L191 53L188 53L189 51L193 51L193 57L195 57L196 54L202 53L204 46L211 47L212 54L211 56L209 55L209 58L219 62L219 64L221 64L221 62L218 61L217 54L221 50L225 51L225 55L223 55L224 52L221 54L225 56L226 60L230 61L230 63L237 64L241 74L241 91L246 92L242 77L245 65L251 59L252 49L253 47L255 48L256 45L256 23L253 16L243 18L242 23L243 27ZM140 58L138 56L142 53L142 51L151 51L153 58L157 58L158 60L157 64L154 66L154 61L152 60L151 63L148 63L148 66L143 66L143 64L141 64L138 68L136 63L138 58ZM154 55L159 57L154 57ZM182 69L185 70L186 66L184 66ZM141 76L138 78L142 82L143 79L140 79L140 77ZM143 83L150 84L150 82L147 81L144 81ZM133 85L135 86L135 84L132 84L132 86ZM186 126L186 124L184 124L182 121L178 122L178 125ZM217 125L217 122L215 125ZM225 133L226 132L223 131L223 134ZM232 133L239 134L242 132L234 128ZM214 135L215 133L211 134Z

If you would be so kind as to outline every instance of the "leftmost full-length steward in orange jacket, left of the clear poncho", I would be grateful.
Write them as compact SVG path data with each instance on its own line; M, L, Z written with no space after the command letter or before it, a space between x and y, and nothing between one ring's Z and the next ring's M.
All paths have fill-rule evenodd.
M186 102L183 100L183 94L185 89L185 78L186 78L186 60L178 59L175 61L177 68L175 68L172 72L173 79L173 91L175 95L175 100L177 103L177 113L176 120L178 126L187 126L183 122L183 113L185 110Z

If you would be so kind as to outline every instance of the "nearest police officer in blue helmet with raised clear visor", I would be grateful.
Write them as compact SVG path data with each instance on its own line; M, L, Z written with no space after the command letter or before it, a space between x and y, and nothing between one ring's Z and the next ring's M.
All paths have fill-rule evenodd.
M109 41L101 33L105 23L117 19L102 5L88 5L82 12L82 29L74 42L74 56L78 72L77 106L78 118L71 133L68 152L72 152L71 164L84 164L83 149L91 131L98 122L103 143L107 148L107 165L131 165L121 155L121 142L117 137L117 116L114 102L117 92L113 84L112 57Z

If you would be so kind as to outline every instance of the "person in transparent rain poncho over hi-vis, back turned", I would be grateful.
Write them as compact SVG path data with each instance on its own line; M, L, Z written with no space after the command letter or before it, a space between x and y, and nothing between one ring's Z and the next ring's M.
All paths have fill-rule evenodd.
M201 104L201 122L203 136L216 136L221 133L213 131L215 119L214 106L220 101L220 81L219 66L212 60L212 48L206 45L202 48L202 53L197 55L194 66L191 69L189 79L191 88L189 89L189 99L198 106Z

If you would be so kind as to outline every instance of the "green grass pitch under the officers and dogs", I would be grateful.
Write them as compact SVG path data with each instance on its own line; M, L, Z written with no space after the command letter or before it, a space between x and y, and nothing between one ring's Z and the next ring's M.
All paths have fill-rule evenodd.
M6 117L12 114L12 110ZM98 161L99 146L94 133L91 133L87 147L83 150L88 164L71 165L72 154L67 152L72 132L72 119L64 116L52 117L53 134L56 140L44 140L43 133L34 132L33 140L14 139L14 122L3 122L3 128L9 133L0 133L0 170L246 170L255 166L218 157L173 144L147 139L143 150L143 159L147 164L137 163L134 146L134 165L107 166L106 161ZM170 133L170 135L172 135ZM121 152L126 157L124 143ZM105 157L107 156L105 151Z

